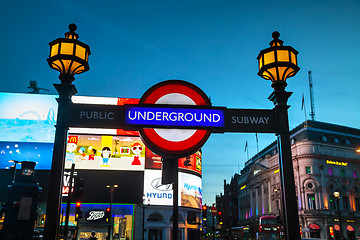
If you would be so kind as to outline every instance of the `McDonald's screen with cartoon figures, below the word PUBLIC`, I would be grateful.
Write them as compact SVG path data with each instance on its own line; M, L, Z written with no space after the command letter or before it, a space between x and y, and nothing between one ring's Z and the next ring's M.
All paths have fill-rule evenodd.
M68 135L65 168L144 170L145 146L139 137Z

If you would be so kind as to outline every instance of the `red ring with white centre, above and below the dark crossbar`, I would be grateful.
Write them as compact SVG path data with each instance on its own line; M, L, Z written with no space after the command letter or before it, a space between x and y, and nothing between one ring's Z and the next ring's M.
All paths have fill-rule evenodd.
M139 104L173 104L211 106L209 98L197 86L182 80L168 80L148 89ZM154 129L139 131L144 143L162 156L184 157L201 148L209 130Z

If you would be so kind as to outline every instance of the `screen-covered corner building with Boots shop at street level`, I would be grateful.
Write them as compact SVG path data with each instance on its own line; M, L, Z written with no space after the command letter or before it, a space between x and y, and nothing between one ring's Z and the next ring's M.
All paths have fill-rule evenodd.
M56 125L56 96L0 93L0 201L7 199L13 163L35 161L35 178L43 188L36 229L42 234ZM123 105L137 99L73 97L76 103ZM197 239L202 199L201 152L179 159L179 229L183 240ZM64 226L69 171L84 181L79 199L83 218L78 222L78 239L92 231L105 239L108 223L103 211L109 208L107 185L118 185L113 194L114 239L169 239L172 229L172 186L161 185L161 157L147 149L137 132L121 129L70 128L65 157L63 204ZM19 166L17 167L19 168ZM68 229L75 232L75 200ZM159 217L160 216L160 217ZM0 221L1 222L1 221ZM63 231L64 227L61 228Z

